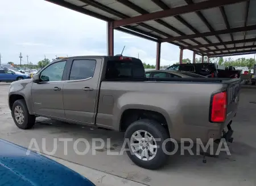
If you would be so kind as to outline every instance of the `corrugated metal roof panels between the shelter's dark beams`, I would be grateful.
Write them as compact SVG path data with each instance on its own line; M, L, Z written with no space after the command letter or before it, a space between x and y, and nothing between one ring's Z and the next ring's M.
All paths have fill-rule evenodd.
M51 2L52 0L47 0L47 1ZM159 0L159 1L162 1L170 8L187 5L185 0ZM203 1L209 1L209 0L193 0L193 3L199 3L199 2L203 2ZM56 3L56 1L54 1L54 2ZM93 13L84 12L85 14L96 16L96 17L98 17L100 19L104 19L104 20L109 20L109 18L113 19L113 20L119 20L126 16L133 17L133 16L141 15L137 11L133 10L135 8L123 5L122 3L117 2L116 0L91 0L92 3L96 2L95 6L99 6L99 7L94 7L94 5L87 5L86 3L82 2L82 0L80 0L80 1L79 0L59 0L59 2L61 2L61 3L59 3L61 6L65 6L65 7L69 7L70 4L68 4L68 3L71 3L75 6L77 6L77 11L80 11L80 12L82 12L81 9L85 9L85 10L89 10L93 13L97 13L98 15L103 15L105 17L94 15ZM62 2L67 2L67 3L62 3ZM228 17L228 22L229 22L231 28L245 26L246 2L247 1L224 6L224 11ZM154 12L163 10L161 7L159 7L156 3L154 3L151 0L129 0L129 3L133 3L135 6L138 6L141 9L143 9L149 13L154 13ZM57 2L57 4L58 4L58 2ZM247 26L256 25L255 7L256 7L256 0L250 0ZM73 9L73 7L70 7L70 8ZM111 11L113 11L113 10L115 12L111 13ZM214 7L212 9L200 10L200 12L204 16L204 18L207 20L207 22L209 22L210 26L214 30L225 30L226 29L227 26L224 21L224 18L222 17L219 7ZM207 24L204 23L203 20L201 20L202 18L200 18L199 15L197 15L196 13L181 14L180 18L184 19L185 22L190 24L193 28L195 28L195 30L197 30L200 33L210 31ZM176 19L174 16L160 18L160 19L163 22L174 27L176 30L178 30L177 32L179 34L175 31L171 30L170 28L168 28L168 26L163 26L162 24L157 23L155 20L148 20L143 23L147 24L148 26L153 27L156 30L159 30L159 32L164 32L166 34L164 34L164 35L159 34L158 32L149 30L142 26L138 26L138 24L136 24L136 23L130 24L129 26L136 26L136 27L134 27L134 29L136 28L137 31L142 31L144 33L148 32L148 34L158 36L159 38L167 38L168 35L170 35L171 37L176 37L176 36L180 36L180 34L182 34L182 33L184 33L185 35L198 34L197 31L195 31L195 30L193 31L192 28L189 28L188 26L186 26L183 23L183 20ZM133 30L133 27L131 27L131 30ZM245 32L236 32L236 33L233 33L232 35L234 36L234 40L243 40L244 34L245 34ZM207 36L206 38L212 43L220 43L220 40L218 40L216 38L216 36ZM230 34L222 34L222 35L220 35L220 38L221 38L221 40L223 40L223 42L231 41ZM246 32L246 39L252 39L252 38L256 38L256 30ZM208 44L208 42L203 38L195 38L195 40L197 41L197 43ZM191 45L195 45L195 46L197 45L197 43L193 42L191 39L183 39L182 41L185 43L191 44ZM180 46L187 46L187 44L181 43L180 41L174 41L174 43L177 43ZM245 46L249 46L251 44L253 44L253 42L246 43ZM226 45L226 47L229 47L229 48L234 47L234 44L228 44L228 45ZM236 47L243 47L243 42L236 44ZM216 48L223 49L224 46L220 45L218 47L200 48L199 50L205 50L207 52L208 49L216 49ZM195 50L198 50L198 49L195 48ZM223 52L223 50L220 53L222 53L222 52ZM210 52L210 53L212 53L212 52Z

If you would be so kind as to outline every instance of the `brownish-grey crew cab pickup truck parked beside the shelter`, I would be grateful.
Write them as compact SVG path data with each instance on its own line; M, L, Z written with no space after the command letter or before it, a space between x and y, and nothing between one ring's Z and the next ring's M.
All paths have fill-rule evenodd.
M239 92L239 79L146 78L139 59L80 56L53 61L32 79L13 82L9 106L20 129L30 129L42 116L125 131L130 159L155 169L167 160L167 138L232 141Z

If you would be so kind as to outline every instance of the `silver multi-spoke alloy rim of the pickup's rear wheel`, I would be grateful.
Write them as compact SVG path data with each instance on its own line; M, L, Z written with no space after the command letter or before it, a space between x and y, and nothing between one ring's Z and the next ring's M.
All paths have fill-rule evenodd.
M133 133L130 140L131 150L137 158L148 161L155 158L157 152L155 138L144 130Z

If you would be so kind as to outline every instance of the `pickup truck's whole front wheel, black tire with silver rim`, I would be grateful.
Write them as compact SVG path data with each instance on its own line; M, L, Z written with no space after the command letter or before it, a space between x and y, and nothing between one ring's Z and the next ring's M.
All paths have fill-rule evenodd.
M17 100L11 109L14 123L20 129L30 129L35 125L35 115L30 115L25 100Z

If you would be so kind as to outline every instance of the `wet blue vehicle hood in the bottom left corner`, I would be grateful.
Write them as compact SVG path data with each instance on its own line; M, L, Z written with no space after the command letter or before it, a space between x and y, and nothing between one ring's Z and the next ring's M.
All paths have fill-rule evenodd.
M0 185L95 186L79 173L45 156L0 139Z

